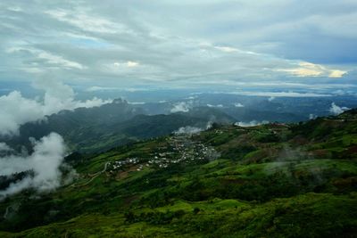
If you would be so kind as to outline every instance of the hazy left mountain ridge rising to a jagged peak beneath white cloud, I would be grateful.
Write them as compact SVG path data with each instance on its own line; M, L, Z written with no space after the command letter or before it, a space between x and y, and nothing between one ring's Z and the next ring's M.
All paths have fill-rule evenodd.
M66 143L74 149L81 142L103 135L104 128L142 113L140 108L133 108L126 101L116 99L100 107L60 111L46 116L46 119L41 121L26 123L20 127L19 136L3 137L1 141L10 144L12 148L21 150L23 145L31 147L29 137L39 139L51 132L56 132L62 135Z

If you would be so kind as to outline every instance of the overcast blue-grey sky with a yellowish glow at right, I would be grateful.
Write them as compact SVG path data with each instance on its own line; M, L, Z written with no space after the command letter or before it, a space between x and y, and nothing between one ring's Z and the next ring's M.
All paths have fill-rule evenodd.
M3 0L0 36L0 88L356 85L355 0Z

